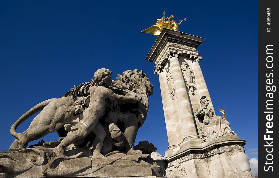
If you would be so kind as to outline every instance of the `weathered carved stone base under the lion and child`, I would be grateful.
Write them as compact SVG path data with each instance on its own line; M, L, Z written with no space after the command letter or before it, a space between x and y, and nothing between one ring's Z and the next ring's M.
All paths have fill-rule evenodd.
M88 150L89 151L89 150ZM71 150L71 152L82 152ZM69 154L69 153L68 153ZM0 177L163 177L160 167L148 154L126 155L113 152L106 158L91 158L89 152L82 157L52 157L51 150L28 148L0 151ZM86 157L85 155L88 155Z

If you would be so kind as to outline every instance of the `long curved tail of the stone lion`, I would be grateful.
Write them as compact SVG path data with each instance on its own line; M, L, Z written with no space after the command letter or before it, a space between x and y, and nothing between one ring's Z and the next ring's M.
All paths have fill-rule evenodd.
M21 142L27 142L27 138L20 133L17 133L15 130L17 129L17 127L26 119L28 119L29 117L31 117L32 115L34 115L35 113L41 111L44 107L46 107L46 105L48 105L50 102L57 100L57 98L52 98L52 99L48 99L46 101L43 101L39 104L37 104L36 106L34 106L33 108L31 108L29 111L25 112L24 115L22 115L11 127L11 135L14 136L16 139L18 139Z

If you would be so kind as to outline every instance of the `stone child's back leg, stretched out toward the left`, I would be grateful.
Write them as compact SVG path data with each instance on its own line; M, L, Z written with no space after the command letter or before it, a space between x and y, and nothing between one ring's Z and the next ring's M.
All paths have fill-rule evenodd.
M67 136L65 136L65 138L62 140L62 142L53 149L53 152L56 154L57 157L66 157L64 154L65 148L78 139L86 137L89 133L89 127L84 122L81 122L78 130L69 132Z

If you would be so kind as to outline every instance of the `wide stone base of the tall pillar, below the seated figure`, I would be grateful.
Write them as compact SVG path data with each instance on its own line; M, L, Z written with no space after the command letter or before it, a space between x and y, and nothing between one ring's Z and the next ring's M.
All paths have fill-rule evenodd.
M168 178L254 178L245 141L229 133L206 142L192 139L183 143L183 149L168 150L170 163Z

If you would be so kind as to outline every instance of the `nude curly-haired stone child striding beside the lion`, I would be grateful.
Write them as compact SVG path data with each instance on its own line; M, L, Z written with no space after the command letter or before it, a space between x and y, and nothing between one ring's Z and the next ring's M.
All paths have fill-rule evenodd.
M76 131L71 131L62 140L62 142L54 148L57 157L65 157L64 149L77 141L86 137L90 132L96 134L93 141L93 157L104 158L101 154L106 132L103 126L99 123L99 119L104 116L107 101L110 98L119 103L136 103L140 100L137 96L122 96L115 94L109 86L112 83L112 72L109 69L98 69L94 74L94 80L91 82L90 90L90 103L87 109L83 111L82 122Z

